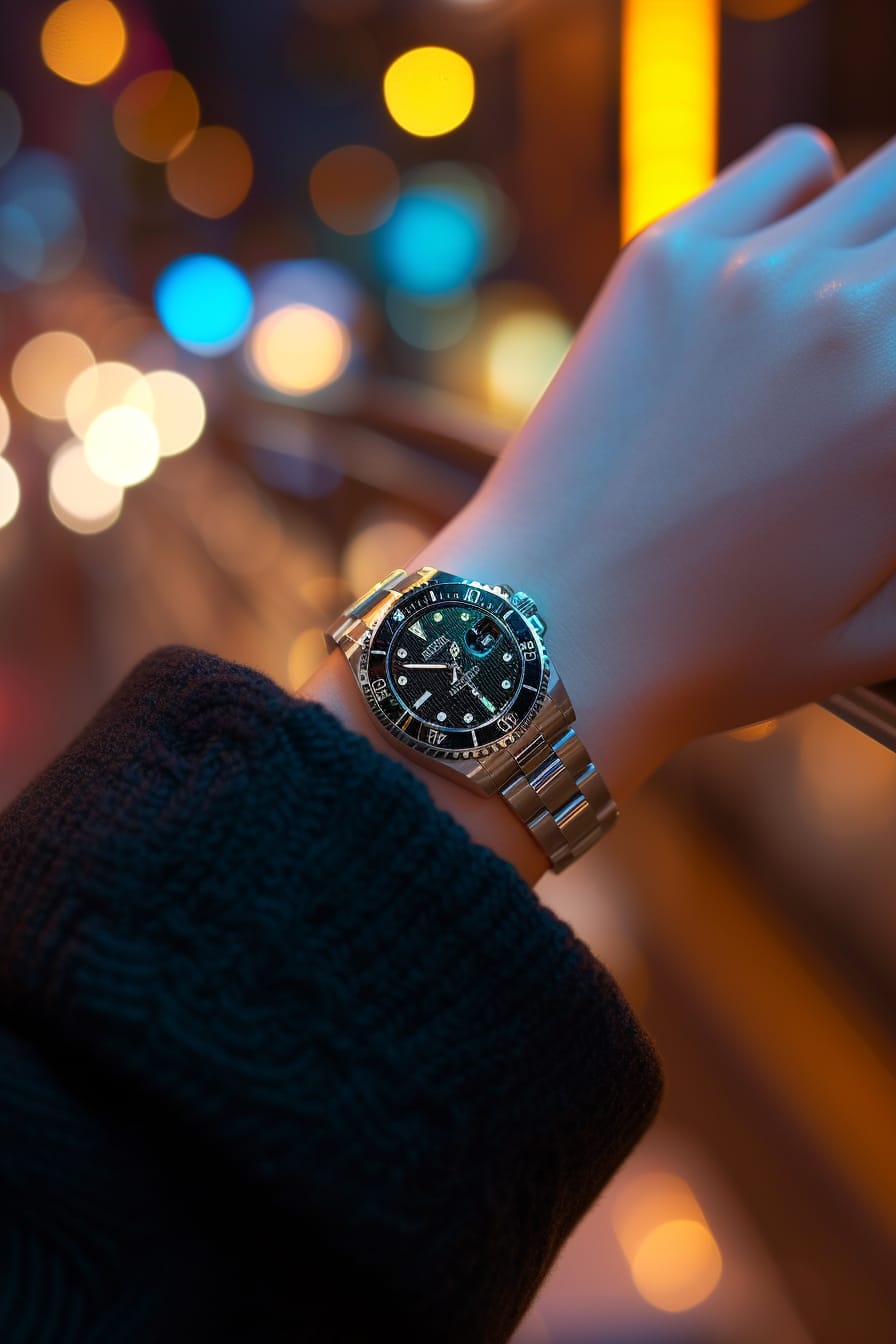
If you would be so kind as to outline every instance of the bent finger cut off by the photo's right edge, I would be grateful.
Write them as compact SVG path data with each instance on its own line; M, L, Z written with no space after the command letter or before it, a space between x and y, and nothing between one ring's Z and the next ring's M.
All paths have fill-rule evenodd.
M801 216L815 237L858 247L896 228L896 137L846 173Z

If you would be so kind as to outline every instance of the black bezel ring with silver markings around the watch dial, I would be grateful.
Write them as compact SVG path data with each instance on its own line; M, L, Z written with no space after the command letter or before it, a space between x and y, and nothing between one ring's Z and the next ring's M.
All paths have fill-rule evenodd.
M476 593L477 597L470 597L472 593ZM533 659L527 659L524 653L524 665L529 664L533 671L524 672L516 698L494 720L496 737L488 742L482 741L482 726L441 731L426 724L398 699L388 677L376 672L376 661L380 657L386 660L396 629L424 606L437 606L442 602L465 602L492 612L510 629L519 642L531 641L535 650ZM384 671L386 664L383 664ZM445 575L407 589L390 603L388 609L365 632L356 669L356 679L364 699L387 732L415 753L439 761L482 759L517 742L532 726L532 720L543 707L549 677L551 660L544 640L527 617L504 595L504 591L476 579L447 578ZM379 689L375 688L375 683ZM506 719L508 715L514 715L516 722L510 728L501 730L501 720ZM492 727L492 724L486 724L486 727ZM446 741L433 741L439 737Z

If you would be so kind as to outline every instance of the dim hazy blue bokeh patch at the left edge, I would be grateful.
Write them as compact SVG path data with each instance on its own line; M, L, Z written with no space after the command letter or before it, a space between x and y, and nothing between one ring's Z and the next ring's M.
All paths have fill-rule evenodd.
M0 179L0 289L62 280L85 243L71 165L48 149L21 151Z

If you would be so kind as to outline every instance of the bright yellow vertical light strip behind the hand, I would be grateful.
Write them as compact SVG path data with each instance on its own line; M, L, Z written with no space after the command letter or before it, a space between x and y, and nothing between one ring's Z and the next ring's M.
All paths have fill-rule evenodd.
M719 0L623 0L622 242L716 173Z

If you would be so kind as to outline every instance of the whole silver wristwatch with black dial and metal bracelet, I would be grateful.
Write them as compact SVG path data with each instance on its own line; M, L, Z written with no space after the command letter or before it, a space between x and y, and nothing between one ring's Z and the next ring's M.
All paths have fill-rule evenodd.
M376 722L407 754L501 793L562 872L618 808L571 727L575 710L535 601L445 570L394 570L325 632Z

